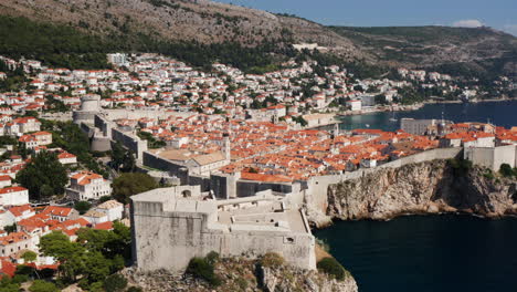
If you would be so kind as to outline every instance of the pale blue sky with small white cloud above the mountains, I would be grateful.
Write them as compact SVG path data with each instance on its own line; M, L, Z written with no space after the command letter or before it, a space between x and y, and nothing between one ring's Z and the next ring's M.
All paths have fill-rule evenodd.
M517 35L517 0L217 0L323 24L487 25Z

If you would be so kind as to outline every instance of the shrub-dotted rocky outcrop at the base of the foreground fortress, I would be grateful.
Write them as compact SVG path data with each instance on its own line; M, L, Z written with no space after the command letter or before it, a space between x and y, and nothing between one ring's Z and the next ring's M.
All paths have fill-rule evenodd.
M126 269L123 274L129 285L143 291L250 291L250 292L357 292L357 283L351 275L337 281L325 273L307 271L289 265L263 267L257 260L240 258L222 259L217 263L215 274L221 284L211 286L201 279L189 274L171 274L168 271L150 273Z

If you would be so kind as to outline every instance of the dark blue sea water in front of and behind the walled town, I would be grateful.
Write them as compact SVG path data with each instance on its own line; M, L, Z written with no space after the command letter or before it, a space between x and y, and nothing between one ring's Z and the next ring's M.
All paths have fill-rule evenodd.
M517 101L426 105L394 117L517 126ZM341 128L394 131L392 113L344 117ZM517 219L412 216L388 222L337 222L315 231L356 278L359 291L517 291Z

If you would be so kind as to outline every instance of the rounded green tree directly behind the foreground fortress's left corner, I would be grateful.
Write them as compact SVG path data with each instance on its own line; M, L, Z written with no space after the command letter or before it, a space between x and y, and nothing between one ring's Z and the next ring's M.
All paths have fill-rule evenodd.
M113 181L113 197L123 204L128 204L130 196L157 187L155 179L147 174L123 174Z

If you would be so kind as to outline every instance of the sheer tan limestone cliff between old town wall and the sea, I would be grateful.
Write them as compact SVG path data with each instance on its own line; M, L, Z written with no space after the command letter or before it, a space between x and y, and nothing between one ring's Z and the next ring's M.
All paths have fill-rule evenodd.
M451 211L487 217L516 213L516 179L494 178L486 171L453 167L446 160L379 169L330 185L326 215L355 220Z

